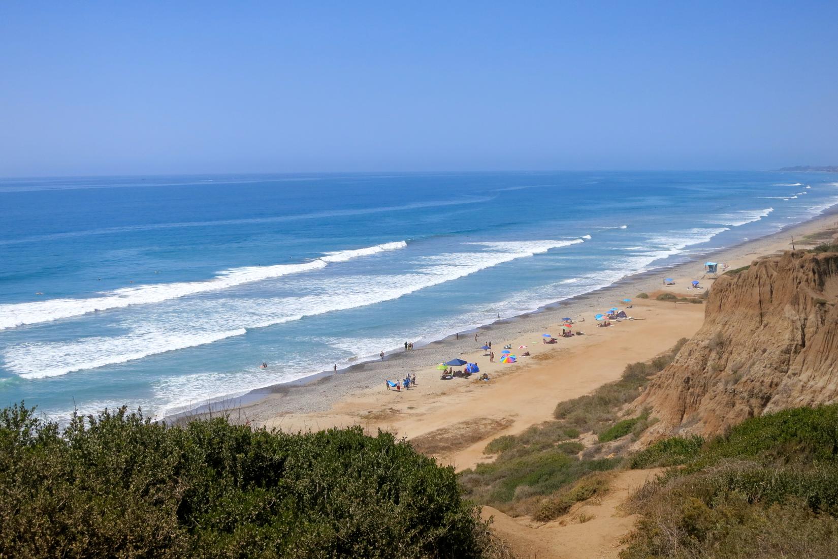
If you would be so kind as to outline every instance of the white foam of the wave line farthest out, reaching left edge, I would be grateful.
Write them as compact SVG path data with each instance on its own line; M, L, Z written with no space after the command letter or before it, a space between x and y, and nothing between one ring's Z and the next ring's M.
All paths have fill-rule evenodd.
M405 248L405 241L385 243L368 248L329 253L317 260L302 264L275 264L273 266L248 266L231 268L219 272L209 280L200 282L157 283L138 287L123 287L93 298L60 298L34 301L31 303L10 303L0 305L0 330L44 323L60 318L70 318L110 308L124 308L131 305L162 303L195 293L217 291L245 283L262 282L290 274L311 272L326 267L329 262L342 262L369 256L381 251Z

